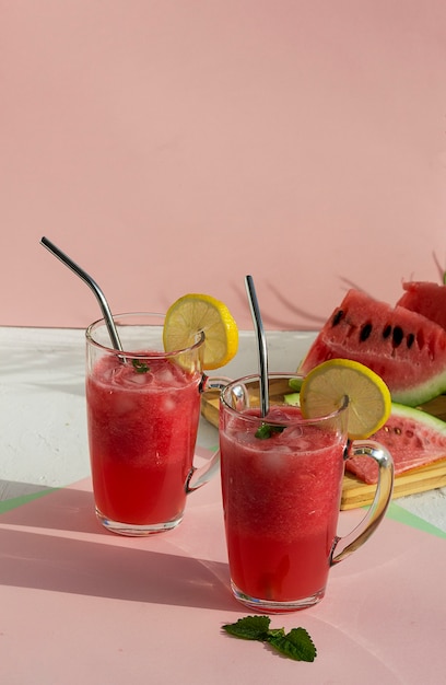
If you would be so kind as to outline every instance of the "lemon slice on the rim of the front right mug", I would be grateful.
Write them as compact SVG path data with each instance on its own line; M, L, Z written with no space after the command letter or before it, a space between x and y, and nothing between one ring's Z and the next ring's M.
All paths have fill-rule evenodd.
M384 426L390 415L390 392L374 371L350 359L329 359L312 369L301 387L305 418L334 411L349 397L348 433L363 440Z

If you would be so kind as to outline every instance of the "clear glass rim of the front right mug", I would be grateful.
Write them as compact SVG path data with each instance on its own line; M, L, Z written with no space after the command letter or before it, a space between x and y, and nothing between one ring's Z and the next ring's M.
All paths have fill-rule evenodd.
M285 372L269 372L268 373L268 380L274 380L274 379L279 379L279 380L285 380L285 379L304 379L305 376L300 375L298 373L285 373ZM244 421L247 421L248 423L253 423L258 426L259 423L262 422L267 422L267 423L271 423L271 426L283 426L284 423L286 423L286 426L308 426L308 425L314 425L314 423L320 423L324 421L329 421L329 420L333 420L337 419L338 417L342 416L343 413L348 409L349 407L349 396L348 395L343 395L342 397L342 402L339 405L339 407L337 409L333 409L333 411L330 411L329 414L324 414L322 416L315 416L312 418L304 418L302 416L300 417L295 417L295 418L291 418L291 419L286 419L284 420L274 420L274 419L269 419L262 416L253 416L253 415L247 415L244 414L243 411L239 411L238 409L235 409L233 406L231 406L227 400L225 399L225 394L227 392L230 392L231 387L234 387L236 385L246 385L249 382L254 382L257 381L260 383L260 375L258 373L253 373L250 375L245 375L242 376L239 379L235 379L234 381L231 381L231 383L228 383L227 385L225 385L221 393L220 393L220 402L223 405L224 409L230 411L233 416L237 417L238 419L243 419ZM292 395L293 393L296 393L297 391L293 391L292 388L290 388L290 395ZM285 403L282 403L280 405L274 405L272 404L272 406L290 406L292 407L293 405L286 405ZM257 408L257 407L256 407ZM258 407L260 408L260 406ZM298 408L298 407L296 407Z

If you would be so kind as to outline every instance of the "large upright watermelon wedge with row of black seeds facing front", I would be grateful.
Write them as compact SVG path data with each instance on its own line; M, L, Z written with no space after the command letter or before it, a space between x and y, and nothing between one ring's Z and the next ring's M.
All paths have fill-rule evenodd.
M446 391L446 330L402 306L349 290L300 365L352 359L382 376L392 400L418 406Z

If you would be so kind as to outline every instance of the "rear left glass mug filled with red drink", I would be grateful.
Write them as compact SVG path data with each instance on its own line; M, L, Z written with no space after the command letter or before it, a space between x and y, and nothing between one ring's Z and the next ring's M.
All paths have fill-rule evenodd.
M122 351L104 320L86 329L86 408L96 515L114 533L148 535L181 521L189 492L210 480L215 455L193 466L204 335L166 353L164 316L114 317ZM219 386L227 379L219 380Z

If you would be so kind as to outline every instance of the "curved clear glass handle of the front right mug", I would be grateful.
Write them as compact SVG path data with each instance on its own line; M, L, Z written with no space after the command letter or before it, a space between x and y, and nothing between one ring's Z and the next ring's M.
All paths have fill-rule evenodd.
M353 456L369 456L378 465L378 483L376 484L374 500L355 529L348 535L336 537L330 555L330 566L345 559L355 549L359 549L377 529L389 506L394 490L394 461L389 452L378 442L372 440L356 440L352 443L348 458Z

